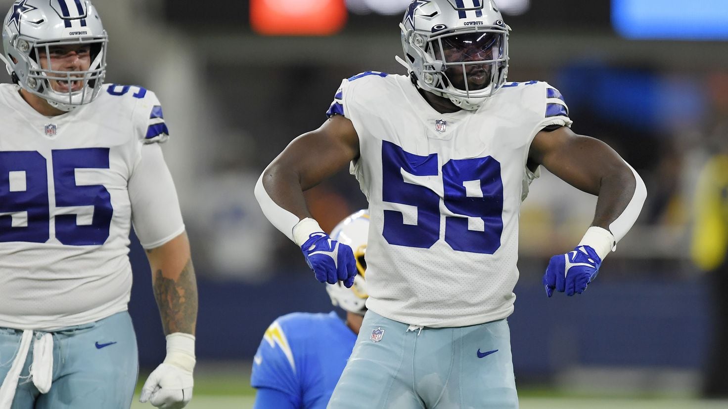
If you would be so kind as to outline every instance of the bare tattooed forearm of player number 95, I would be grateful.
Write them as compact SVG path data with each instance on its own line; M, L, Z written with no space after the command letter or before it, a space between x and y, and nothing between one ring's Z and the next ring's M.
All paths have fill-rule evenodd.
M189 239L182 233L164 245L146 250L151 282L165 335L194 335L197 322L197 280Z

